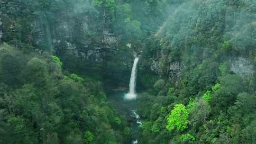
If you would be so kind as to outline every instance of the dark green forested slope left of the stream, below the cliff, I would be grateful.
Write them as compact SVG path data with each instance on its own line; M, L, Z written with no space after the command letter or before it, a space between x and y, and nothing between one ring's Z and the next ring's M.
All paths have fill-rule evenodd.
M57 69L50 70L52 57L33 55L27 57L27 64L19 65L9 53L0 57L0 73L13 80L0 83L0 143L123 144L128 141L130 132L126 121L106 103L100 82L89 83L75 74L70 76L73 81L67 81L61 71L56 78ZM14 71L14 66L19 71ZM19 74L24 75L24 80L16 86Z

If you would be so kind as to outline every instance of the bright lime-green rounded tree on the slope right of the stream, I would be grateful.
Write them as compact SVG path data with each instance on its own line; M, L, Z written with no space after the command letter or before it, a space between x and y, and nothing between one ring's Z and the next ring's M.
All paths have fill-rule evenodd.
M171 111L171 114L167 118L168 125L166 128L172 130L176 128L177 130L186 129L189 124L189 112L186 110L186 107L183 104L174 105L174 109Z

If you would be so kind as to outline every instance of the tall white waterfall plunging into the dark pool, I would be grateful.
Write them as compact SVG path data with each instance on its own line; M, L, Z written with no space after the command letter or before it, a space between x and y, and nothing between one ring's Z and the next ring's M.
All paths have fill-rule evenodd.
M137 63L138 63L138 57L136 56L133 62L132 71L131 71L131 78L130 78L130 90L129 93L125 95L125 99L136 99L136 73L137 73Z

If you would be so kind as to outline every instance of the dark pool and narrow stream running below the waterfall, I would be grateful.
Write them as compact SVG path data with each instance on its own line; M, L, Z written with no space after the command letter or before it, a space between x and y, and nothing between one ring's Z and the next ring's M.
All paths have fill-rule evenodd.
M125 94L124 91L111 91L108 93L108 101L117 108L120 114L128 119L131 129L131 138L128 144L138 144L138 132L142 122L136 110L137 101L136 99L125 100Z

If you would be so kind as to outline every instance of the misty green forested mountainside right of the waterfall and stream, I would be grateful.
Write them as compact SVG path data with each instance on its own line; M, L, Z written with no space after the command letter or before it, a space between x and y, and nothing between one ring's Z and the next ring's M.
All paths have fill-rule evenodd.
M161 104L154 100L160 98L160 95L152 90L150 94L155 96L150 96L150 99L145 99L144 95L138 98L138 112L145 119L140 142L143 144L254 144L252 137L255 130L252 128L256 116L254 112L256 107L253 106L256 102L254 92L256 87L252 90L252 82L249 81L254 81L255 74L248 74L249 76L246 76L247 73L236 74L234 68L238 67L235 66L232 58L239 56L250 58L250 63L255 59L255 45L251 40L255 35L250 35L251 33L246 30L254 31L251 24L252 21L256 21L255 11L243 10L252 9L255 2L250 0L179 2L182 4L170 13L155 38L148 38L146 52L143 55L145 59L150 57L156 61L143 64L152 68L159 63L156 72L158 71L161 77L166 76L171 79L165 81L165 85L171 86L165 86L169 90L161 93L161 96L166 98ZM172 3L177 4L173 0ZM241 15L246 16L240 17ZM248 23L245 24L245 21ZM175 79L174 75L178 72L172 67L177 62L184 66L179 80ZM246 69L244 64L240 66L238 69ZM253 70L252 67L250 69ZM155 90L162 90L164 87L157 88ZM192 104L193 108L188 117L180 119L180 121L189 121L187 129L178 131L174 128L169 132L165 128L170 126L169 123L165 121L157 123L159 119L167 117L171 119L170 112L175 106L182 103L184 107L188 107L190 99L194 97L197 100ZM156 105L160 108L153 109ZM184 107L183 109L186 109ZM148 111L148 108L151 110ZM175 126L174 121L171 122L172 126Z

